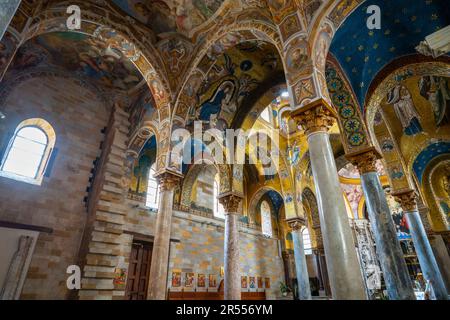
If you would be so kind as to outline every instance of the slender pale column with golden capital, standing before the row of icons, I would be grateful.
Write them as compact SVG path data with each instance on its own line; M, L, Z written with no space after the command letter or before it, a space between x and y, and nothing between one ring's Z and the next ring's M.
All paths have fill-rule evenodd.
M224 239L224 299L241 300L241 266L239 264L239 204L242 197L235 194L219 198L225 211Z

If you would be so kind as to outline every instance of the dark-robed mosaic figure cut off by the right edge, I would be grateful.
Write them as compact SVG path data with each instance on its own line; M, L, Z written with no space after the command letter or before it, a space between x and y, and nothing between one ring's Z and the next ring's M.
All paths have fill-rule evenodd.
M450 124L449 82L449 78L434 76L419 80L420 95L430 102L437 127Z

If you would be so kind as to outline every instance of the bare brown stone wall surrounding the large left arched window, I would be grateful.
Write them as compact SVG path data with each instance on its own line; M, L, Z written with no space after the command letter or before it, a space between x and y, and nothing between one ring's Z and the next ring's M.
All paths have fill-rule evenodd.
M0 220L53 229L39 236L22 298L67 298L66 268L78 262L87 215L83 199L109 112L74 80L53 77L18 84L1 109L7 117L0 120L0 150L28 118L43 118L56 132L55 161L41 186L0 177Z

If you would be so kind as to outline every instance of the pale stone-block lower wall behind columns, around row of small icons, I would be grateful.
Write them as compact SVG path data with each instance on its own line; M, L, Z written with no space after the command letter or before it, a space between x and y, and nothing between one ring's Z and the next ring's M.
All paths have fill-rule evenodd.
M156 214L145 210L131 210L125 230L133 234L153 236ZM224 266L224 223L219 219L200 217L184 212L174 212L172 219L169 277L167 287L172 291L217 291L222 278L220 269ZM279 297L279 283L284 282L283 261L277 239L264 238L261 232L241 227L241 275L247 277L270 278L270 288L266 290L269 299ZM128 263L128 261L126 261ZM181 286L172 287L172 273L181 273ZM185 276L194 273L194 286L186 288ZM198 275L206 277L206 287L197 286ZM209 275L215 275L217 286L208 287ZM257 291L258 289L243 289ZM264 290L264 289L262 289Z

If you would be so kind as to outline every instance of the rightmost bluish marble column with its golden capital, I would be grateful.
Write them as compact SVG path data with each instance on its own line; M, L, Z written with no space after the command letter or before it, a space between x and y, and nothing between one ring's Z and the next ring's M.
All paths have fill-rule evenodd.
M430 281L436 299L448 300L447 290L442 278L441 272L428 241L425 228L420 219L417 195L415 191L408 190L404 192L393 193L395 199L400 203L403 213L406 216L411 237L419 259L420 269L426 280Z

